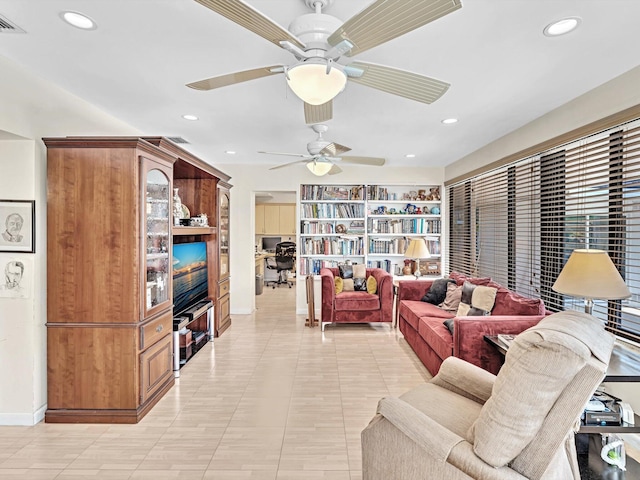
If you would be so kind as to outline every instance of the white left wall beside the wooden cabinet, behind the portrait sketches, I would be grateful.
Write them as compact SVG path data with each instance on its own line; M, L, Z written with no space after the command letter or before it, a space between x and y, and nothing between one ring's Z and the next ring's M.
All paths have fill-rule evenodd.
M34 425L47 402L46 149L42 137L140 132L0 56L0 199L36 201L30 297L0 298L0 425Z

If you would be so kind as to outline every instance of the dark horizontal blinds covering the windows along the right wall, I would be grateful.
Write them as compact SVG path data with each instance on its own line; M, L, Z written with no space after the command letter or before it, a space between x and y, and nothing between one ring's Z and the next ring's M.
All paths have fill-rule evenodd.
M448 264L551 311L584 309L554 292L576 248L608 252L631 298L595 300L593 314L640 341L640 121L611 128L447 187Z

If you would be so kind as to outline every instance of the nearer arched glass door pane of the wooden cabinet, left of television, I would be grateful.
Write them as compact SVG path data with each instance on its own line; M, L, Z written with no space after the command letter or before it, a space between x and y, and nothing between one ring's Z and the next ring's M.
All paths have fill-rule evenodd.
M145 312L170 300L169 252L170 182L167 175L151 168L146 172L145 240L146 240L146 300Z

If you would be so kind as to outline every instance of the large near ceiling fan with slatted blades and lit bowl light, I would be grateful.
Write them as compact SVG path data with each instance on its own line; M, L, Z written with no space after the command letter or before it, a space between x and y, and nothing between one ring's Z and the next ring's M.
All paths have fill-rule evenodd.
M432 103L449 88L434 78L383 65L345 59L388 42L462 7L461 0L376 0L346 22L322 13L334 0L303 0L315 13L302 15L285 29L243 0L195 0L289 51L293 65L230 73L187 84L196 90L283 73L304 102L306 123L333 116L332 99L347 80L422 103ZM346 0L345 0L346 1Z

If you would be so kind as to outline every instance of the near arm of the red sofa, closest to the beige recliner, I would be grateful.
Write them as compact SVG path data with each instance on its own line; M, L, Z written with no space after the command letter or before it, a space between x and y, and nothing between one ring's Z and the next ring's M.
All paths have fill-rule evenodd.
M485 335L518 335L537 325L544 315L490 315L453 319L453 355L497 374L504 357L485 340Z

